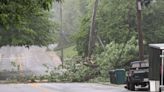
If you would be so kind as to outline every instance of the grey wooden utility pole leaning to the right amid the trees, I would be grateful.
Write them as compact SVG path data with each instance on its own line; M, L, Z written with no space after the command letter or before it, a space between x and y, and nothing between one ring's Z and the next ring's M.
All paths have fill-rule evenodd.
M88 59L91 58L93 48L95 46L96 42L96 13L97 13L97 6L98 6L98 0L95 0L93 13L92 13L92 21L91 21L91 27L89 32L89 42L88 42Z

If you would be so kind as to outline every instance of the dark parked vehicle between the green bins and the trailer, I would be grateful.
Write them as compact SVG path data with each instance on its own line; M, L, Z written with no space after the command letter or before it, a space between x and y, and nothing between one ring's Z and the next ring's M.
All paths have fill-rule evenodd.
M129 71L127 72L127 89L134 91L135 86L149 86L149 63L147 61L131 62Z

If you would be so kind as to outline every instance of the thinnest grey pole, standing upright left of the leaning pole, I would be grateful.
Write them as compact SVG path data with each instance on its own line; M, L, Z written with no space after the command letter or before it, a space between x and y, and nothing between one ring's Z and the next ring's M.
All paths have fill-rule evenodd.
M63 9L62 9L62 2L60 2L60 36L63 35ZM63 42L61 42L63 43ZM62 62L62 68L64 63L64 50L63 47L61 48L61 62Z

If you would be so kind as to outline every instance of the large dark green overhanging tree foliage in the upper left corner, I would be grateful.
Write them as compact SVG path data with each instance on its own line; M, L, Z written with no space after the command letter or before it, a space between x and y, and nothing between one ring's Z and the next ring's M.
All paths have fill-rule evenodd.
M47 45L55 23L47 11L54 0L1 0L0 46Z

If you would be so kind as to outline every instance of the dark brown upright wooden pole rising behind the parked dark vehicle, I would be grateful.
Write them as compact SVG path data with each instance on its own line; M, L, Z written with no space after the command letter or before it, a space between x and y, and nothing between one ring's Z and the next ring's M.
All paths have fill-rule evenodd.
M144 60L144 45L143 45L143 32L141 28L141 18L142 18L142 6L141 0L136 0L137 4L137 31L138 31L138 44L139 44L139 58L140 61Z

